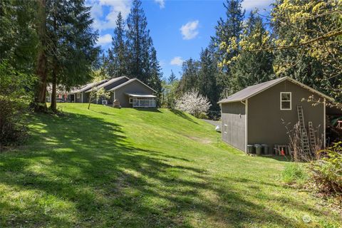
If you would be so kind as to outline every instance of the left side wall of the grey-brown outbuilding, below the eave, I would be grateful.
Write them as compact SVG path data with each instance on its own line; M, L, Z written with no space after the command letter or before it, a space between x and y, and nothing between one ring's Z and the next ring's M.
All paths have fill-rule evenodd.
M246 149L245 143L245 106L241 102L222 104L222 140L239 148ZM227 125L227 133L224 133L224 125Z

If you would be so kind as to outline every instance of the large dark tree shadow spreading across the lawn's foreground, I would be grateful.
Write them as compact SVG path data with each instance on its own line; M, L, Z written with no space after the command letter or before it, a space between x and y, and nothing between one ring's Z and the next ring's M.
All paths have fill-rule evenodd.
M28 148L34 152L0 155L0 184L14 193L0 197L0 227L297 225L249 199L253 180L215 178L184 157L135 147L115 123L74 114L36 115L33 122ZM170 165L170 159L183 165ZM20 193L22 199L15 197ZM299 203L284 200L289 207Z

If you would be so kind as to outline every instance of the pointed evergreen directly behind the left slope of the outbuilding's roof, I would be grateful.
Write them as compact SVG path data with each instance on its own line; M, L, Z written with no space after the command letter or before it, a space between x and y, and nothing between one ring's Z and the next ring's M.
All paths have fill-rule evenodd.
M232 64L230 93L235 93L247 86L269 81L274 77L273 54L270 51L249 51L248 48L245 48L245 46L249 46L261 49L265 45L271 45L271 38L261 17L255 16L253 12L249 15L244 26L240 45L244 50L240 51L237 60Z

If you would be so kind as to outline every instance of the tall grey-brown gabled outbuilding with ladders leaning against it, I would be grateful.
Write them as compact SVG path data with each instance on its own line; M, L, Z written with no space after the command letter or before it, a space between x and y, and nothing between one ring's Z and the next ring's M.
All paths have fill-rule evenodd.
M310 96L322 103L310 103ZM247 145L289 143L286 124L292 129L299 121L297 106L304 113L304 123L312 122L317 135L326 142L326 102L323 93L289 77L249 86L219 101L222 114L222 140L247 152ZM314 104L314 105L313 105Z

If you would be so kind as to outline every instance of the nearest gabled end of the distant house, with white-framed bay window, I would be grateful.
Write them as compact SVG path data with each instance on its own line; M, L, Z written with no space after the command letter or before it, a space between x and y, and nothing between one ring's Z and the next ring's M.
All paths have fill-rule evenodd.
M157 93L138 78L132 78L108 90L110 100L118 100L125 108L155 108Z

